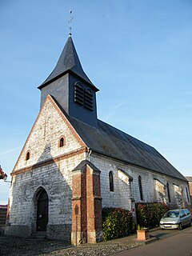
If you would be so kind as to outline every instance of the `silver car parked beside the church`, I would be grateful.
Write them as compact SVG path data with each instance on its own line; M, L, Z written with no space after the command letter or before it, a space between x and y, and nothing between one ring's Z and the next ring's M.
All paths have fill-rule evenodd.
M192 224L191 214L188 209L168 210L160 220L162 229L178 229L182 230L183 226Z

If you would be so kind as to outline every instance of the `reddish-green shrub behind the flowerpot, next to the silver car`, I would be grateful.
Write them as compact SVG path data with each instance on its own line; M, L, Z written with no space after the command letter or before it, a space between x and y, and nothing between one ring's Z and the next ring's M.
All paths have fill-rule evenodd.
M162 215L168 210L163 202L146 202L136 204L136 214L139 226L154 228L159 225Z

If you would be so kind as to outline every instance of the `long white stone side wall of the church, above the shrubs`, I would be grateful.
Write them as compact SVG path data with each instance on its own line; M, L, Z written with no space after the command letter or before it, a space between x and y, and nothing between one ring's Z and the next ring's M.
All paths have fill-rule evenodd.
M185 193L187 186L185 181L136 166L130 166L118 160L94 153L91 154L90 161L101 170L102 207L122 207L131 210L131 196L133 196L135 202L167 202L170 206L181 206L182 202L189 204ZM132 191L130 191L130 184L122 181L122 178L119 177L119 169L124 170L133 178L133 182L130 182ZM110 171L114 174L114 192L110 192ZM138 187L139 175L142 178L143 200L140 198ZM167 182L169 183L170 202L166 188ZM174 183L178 184L179 190L183 190L182 201L176 198Z

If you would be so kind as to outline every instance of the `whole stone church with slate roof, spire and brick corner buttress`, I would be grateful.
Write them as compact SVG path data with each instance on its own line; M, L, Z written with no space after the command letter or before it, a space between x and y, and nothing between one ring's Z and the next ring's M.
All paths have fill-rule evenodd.
M11 173L6 234L102 240L102 207L190 204L188 182L154 147L97 117L98 88L69 35L41 90L41 109ZM110 106L109 106L110 107Z

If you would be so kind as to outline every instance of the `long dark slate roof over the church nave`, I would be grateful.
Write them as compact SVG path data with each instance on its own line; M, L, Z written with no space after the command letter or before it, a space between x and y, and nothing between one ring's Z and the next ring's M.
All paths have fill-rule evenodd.
M154 147L101 120L98 120L98 128L95 128L76 118L71 118L65 112L63 114L66 115L66 118L74 126L86 146L90 147L90 150L134 166L186 181L186 178Z

